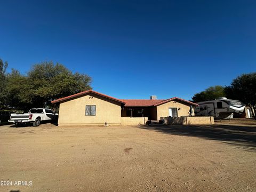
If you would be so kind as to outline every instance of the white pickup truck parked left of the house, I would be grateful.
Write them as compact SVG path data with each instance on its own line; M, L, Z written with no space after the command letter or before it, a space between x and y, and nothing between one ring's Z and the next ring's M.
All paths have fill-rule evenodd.
M11 114L9 123L33 123L33 126L39 126L41 121L49 121L58 118L58 114L54 113L51 109L35 108L30 109L25 114Z

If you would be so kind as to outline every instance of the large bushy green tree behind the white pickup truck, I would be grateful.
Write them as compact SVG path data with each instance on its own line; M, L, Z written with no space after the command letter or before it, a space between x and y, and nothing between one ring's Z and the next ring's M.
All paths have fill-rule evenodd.
M51 100L91 89L90 84L91 77L51 61L34 65L27 76L17 70L8 74L10 103L23 109L45 107Z

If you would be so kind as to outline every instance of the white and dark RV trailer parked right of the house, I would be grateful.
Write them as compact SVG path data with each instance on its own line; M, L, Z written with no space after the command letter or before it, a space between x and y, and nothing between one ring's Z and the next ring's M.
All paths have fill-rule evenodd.
M214 116L219 118L220 113L242 113L244 111L244 103L238 100L218 98L211 101L202 101L197 103L195 107L196 116Z

